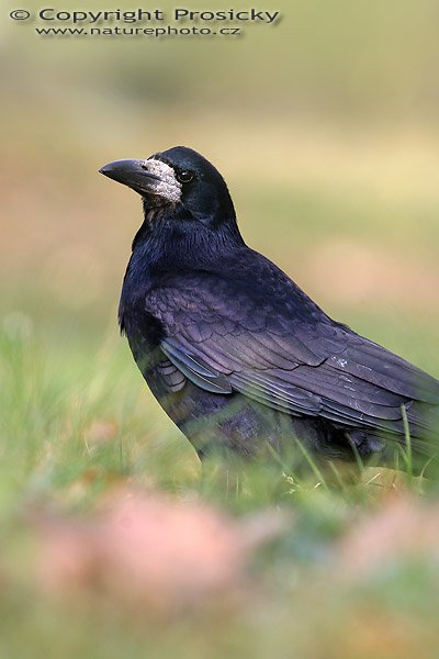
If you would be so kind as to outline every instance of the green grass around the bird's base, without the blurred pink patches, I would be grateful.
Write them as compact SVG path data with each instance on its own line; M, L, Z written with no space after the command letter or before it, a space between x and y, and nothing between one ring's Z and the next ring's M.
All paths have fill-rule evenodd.
M425 503L416 509L435 505L435 485L410 476L409 436L406 474L363 470L352 478L338 467L323 473L314 461L285 472L273 461L236 479L217 462L201 471L188 443L148 399L113 331L99 343L89 333L77 336L67 354L38 336L25 315L8 317L1 378L3 656L32 648L36 658L399 658L415 649L435 657L436 548L419 540L408 554L396 546L390 559L391 539L378 524L376 537L365 533L364 541L382 551L382 561L357 573L349 555L349 538L364 520L398 514L395 500L416 502L421 493ZM157 617L94 583L54 599L35 579L35 511L93 518L120 488L210 502L238 520L267 510L290 517L280 538L252 552L243 592L195 603L177 617ZM408 512L402 524L405 514L410 524Z

